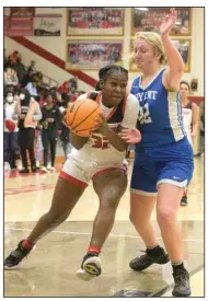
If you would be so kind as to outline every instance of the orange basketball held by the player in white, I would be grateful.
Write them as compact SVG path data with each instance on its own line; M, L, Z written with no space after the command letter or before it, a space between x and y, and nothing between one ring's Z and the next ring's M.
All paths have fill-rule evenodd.
M81 100L67 108L65 120L67 126L78 136L89 137L95 129L95 118L102 114L100 105L92 100Z

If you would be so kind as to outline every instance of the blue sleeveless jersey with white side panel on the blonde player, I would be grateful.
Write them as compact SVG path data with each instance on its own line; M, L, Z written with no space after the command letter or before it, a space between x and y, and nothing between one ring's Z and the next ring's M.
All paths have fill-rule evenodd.
M162 84L164 70L160 70L145 88L140 86L140 77L132 82L130 92L140 104L138 129L141 131L142 139L137 144L138 149L171 144L186 136L180 94L167 91Z

